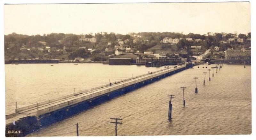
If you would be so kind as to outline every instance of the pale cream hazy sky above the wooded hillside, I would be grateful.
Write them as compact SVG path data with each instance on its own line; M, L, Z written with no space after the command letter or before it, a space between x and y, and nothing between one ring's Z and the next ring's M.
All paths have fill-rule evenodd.
M4 5L4 34L183 32L247 34L250 3Z

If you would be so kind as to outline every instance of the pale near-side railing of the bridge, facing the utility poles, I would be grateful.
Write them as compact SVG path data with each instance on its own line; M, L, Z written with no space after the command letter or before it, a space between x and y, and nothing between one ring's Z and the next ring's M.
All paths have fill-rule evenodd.
M109 93L111 91L122 89L122 88L130 86L132 84L143 82L143 81L146 81L148 79L152 79L152 78L158 77L160 75L172 72L172 71L174 71L176 69L180 69L180 68L183 68L183 67L186 67L186 65L180 65L180 66L177 66L176 68L165 68L165 69L162 69L162 70L158 70L157 72L159 72L159 73L154 72L154 74L143 74L143 76L145 76L145 77L140 78L138 80L134 80L134 81L131 81L131 82L123 83L122 85L118 85L118 86L113 85L113 86L111 86L112 87L111 89L104 89L102 91L98 91L98 92L92 93L90 95L86 95L86 96L83 96L83 97L80 97L80 98L77 98L77 99L74 99L74 100L70 100L70 101L67 101L67 102L64 102L64 103L61 103L61 104L58 104L58 105L53 105L51 107L38 110L36 112L36 114L37 115L41 115L41 114L44 114L44 113L49 113L49 112L58 110L60 108L63 108L63 107L69 106L69 105L74 105L76 103L79 103L79 102L82 102L82 101L85 101L85 100L90 100L92 98L99 97L101 95L107 94L107 93ZM169 70L168 71L164 71L164 70L167 70L167 69L169 69ZM141 75L139 77L141 77Z

